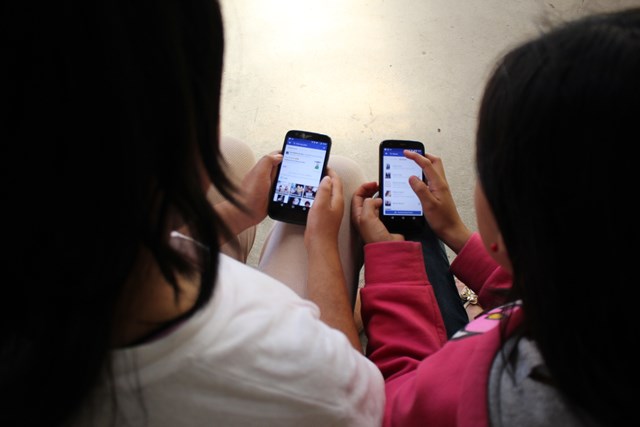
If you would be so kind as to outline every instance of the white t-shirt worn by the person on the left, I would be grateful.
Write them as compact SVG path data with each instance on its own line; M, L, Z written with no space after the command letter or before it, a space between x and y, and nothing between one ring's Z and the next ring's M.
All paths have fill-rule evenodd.
M220 255L211 301L170 334L113 353L117 411L100 389L77 425L366 426L384 380L318 307Z

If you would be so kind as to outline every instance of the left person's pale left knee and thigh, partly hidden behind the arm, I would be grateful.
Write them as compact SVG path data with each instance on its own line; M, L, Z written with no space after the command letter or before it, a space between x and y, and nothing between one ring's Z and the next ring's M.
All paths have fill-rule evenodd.
M240 184L242 178L255 165L256 159L253 150L244 142L229 138L220 138L220 151L227 163L227 173L234 184ZM207 199L212 205L223 200L222 196L214 186L209 188ZM247 257L256 238L256 227L238 234L232 240L220 248L220 252L229 255L241 262L247 262Z

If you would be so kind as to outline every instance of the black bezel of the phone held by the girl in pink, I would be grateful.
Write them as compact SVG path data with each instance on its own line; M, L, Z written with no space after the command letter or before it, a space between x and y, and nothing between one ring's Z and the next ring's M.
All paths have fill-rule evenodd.
M385 188L384 188L384 177L383 174L385 172L384 162L383 162L383 153L385 148L402 148L408 150L421 150L421 153L424 155L425 148L424 144L420 141L416 140L401 140L401 139L386 139L380 143L379 153L378 153L378 190L379 197L382 199L382 203L385 202ZM422 180L424 181L424 173L422 174ZM407 183L407 185L409 185ZM387 227L387 230L391 233L399 233L399 234L407 234L414 231L417 231L425 226L426 220L423 215L406 215L406 216L390 216L384 215L384 210L380 209L380 220Z

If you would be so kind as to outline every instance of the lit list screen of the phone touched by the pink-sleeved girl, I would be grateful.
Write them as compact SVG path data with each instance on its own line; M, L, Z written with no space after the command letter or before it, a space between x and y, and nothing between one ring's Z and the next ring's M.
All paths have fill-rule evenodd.
M409 185L409 177L422 176L422 169L413 160L407 159L407 149L424 154L415 148L382 148L382 214L389 217L422 216L420 199Z

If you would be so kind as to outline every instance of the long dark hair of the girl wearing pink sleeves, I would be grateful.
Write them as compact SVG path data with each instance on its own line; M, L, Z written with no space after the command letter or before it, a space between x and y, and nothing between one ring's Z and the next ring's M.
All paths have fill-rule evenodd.
M479 181L513 265L524 333L556 386L606 425L633 419L640 9L556 28L487 84Z

